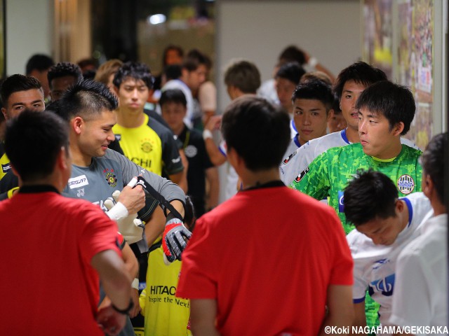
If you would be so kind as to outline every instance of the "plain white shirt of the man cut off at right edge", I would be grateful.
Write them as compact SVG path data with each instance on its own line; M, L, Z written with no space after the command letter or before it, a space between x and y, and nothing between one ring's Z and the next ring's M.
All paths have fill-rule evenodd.
M447 234L448 215L431 217L421 225L420 237L399 255L390 323L447 328ZM435 332L435 335L443 334L447 335L447 331Z

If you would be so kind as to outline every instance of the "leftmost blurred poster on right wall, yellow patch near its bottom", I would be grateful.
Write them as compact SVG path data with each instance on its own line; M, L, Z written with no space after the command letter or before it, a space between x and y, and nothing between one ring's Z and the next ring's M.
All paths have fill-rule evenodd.
M363 1L363 59L392 75L392 0Z

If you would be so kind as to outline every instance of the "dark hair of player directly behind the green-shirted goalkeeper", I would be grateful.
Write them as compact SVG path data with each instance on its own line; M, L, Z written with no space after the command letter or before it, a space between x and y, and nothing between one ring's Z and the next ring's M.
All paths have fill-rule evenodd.
M344 83L348 80L354 80L355 83L370 86L380 80L387 80L387 75L381 69L365 62L355 62L344 68L335 80L333 91L337 94L338 100L342 99Z

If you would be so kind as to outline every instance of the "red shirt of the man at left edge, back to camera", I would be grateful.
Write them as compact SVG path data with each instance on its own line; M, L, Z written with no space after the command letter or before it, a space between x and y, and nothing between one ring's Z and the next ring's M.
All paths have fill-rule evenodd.
M0 333L104 335L95 321L98 274L91 259L117 246L99 207L55 192L0 202Z

